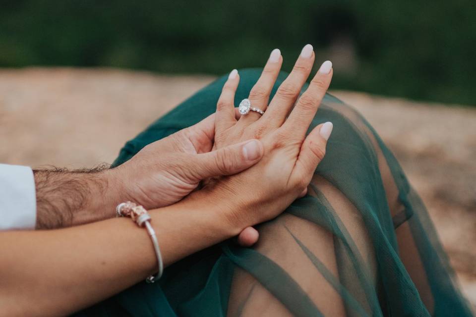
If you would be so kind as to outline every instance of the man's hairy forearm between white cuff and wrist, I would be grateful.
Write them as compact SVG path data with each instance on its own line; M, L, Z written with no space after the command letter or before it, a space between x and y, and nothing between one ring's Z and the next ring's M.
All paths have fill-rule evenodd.
M114 216L115 186L104 167L33 170L37 229L67 227Z

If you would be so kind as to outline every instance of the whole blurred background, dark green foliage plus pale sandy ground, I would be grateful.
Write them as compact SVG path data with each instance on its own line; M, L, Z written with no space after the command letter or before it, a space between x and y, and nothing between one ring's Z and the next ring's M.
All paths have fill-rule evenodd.
M470 0L0 0L0 162L111 163L217 75L280 48L334 64L423 198L476 305L476 5ZM338 128L338 127L336 127Z

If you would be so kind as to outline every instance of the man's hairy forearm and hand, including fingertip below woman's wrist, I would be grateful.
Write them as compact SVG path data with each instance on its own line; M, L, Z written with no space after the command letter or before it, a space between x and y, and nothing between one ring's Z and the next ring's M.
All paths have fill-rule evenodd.
M34 170L39 229L98 221L115 215L123 201L147 209L172 205L193 191L201 180L236 174L263 155L258 140L212 151L215 115L156 141L124 164L113 168L67 171ZM258 232L249 227L238 243L250 246Z

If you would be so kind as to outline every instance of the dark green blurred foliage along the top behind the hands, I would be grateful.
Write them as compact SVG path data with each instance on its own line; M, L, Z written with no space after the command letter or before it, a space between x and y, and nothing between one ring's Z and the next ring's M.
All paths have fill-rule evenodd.
M222 74L290 70L306 43L333 89L476 105L476 4L468 0L0 0L0 67L114 66ZM316 65L318 67L318 65Z

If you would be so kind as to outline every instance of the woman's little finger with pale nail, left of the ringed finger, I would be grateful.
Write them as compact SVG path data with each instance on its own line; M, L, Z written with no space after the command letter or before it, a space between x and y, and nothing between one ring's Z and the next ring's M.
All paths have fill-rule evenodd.
M222 89L222 94L217 102L216 126L220 131L223 126L228 127L236 122L235 119L235 93L238 88L238 70L230 72Z

